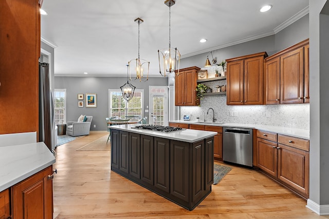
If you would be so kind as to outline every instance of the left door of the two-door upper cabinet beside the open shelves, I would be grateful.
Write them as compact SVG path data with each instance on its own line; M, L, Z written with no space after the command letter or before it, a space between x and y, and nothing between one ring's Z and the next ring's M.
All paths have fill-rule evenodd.
M244 61L227 63L227 105L243 105L244 101Z

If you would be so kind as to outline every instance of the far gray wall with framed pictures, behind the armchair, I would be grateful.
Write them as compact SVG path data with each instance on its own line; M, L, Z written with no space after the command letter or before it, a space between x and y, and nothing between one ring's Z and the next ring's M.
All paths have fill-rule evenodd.
M83 115L92 115L91 131L106 131L105 117L108 117L108 89L120 89L127 82L126 77L55 77L55 88L66 89L66 121L77 121ZM149 105L149 86L168 85L167 77L149 77L147 82L131 82L136 89L144 89L144 109ZM78 94L96 93L97 107L78 107ZM85 101L85 98L84 98ZM148 113L144 112L144 116ZM94 128L96 125L96 128Z

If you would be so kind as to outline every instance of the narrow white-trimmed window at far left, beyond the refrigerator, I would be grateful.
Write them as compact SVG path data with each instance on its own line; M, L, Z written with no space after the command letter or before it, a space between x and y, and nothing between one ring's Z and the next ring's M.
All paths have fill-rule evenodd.
M55 124L66 124L66 89L54 89Z

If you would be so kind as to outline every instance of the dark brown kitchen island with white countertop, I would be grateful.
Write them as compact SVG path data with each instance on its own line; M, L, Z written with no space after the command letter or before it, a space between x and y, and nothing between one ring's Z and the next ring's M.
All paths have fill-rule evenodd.
M213 136L217 133L134 127L111 126L111 170L193 210L211 192Z

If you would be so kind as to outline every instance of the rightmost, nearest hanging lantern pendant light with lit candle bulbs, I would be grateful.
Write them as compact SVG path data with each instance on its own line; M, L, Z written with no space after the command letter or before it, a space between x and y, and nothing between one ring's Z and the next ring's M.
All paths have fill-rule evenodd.
M170 22L171 22L171 6L175 5L174 0L166 0L165 4L169 7L169 48L158 50L159 57L159 70L160 74L164 77L167 74L173 73L177 70L179 74L180 53L177 48L171 48L170 42ZM178 66L177 66L178 65Z

